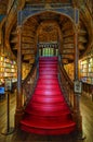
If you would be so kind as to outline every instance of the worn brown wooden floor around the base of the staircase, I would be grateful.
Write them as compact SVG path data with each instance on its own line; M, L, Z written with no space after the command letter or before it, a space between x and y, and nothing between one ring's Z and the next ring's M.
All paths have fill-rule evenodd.
M14 113L15 113L15 94L11 94L10 102L10 121L11 128L14 128ZM84 140L77 140L76 134L70 135L38 135L30 134L21 130L14 131L10 135L2 134L6 129L6 96L0 100L0 142L93 142L93 102L88 97L81 96L80 109L82 115L82 127L85 135Z

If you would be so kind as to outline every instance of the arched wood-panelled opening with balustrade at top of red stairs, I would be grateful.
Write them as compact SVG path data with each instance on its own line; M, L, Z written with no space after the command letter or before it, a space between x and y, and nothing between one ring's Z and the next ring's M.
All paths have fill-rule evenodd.
M59 31L54 20L41 22L37 31L39 56L58 56Z

